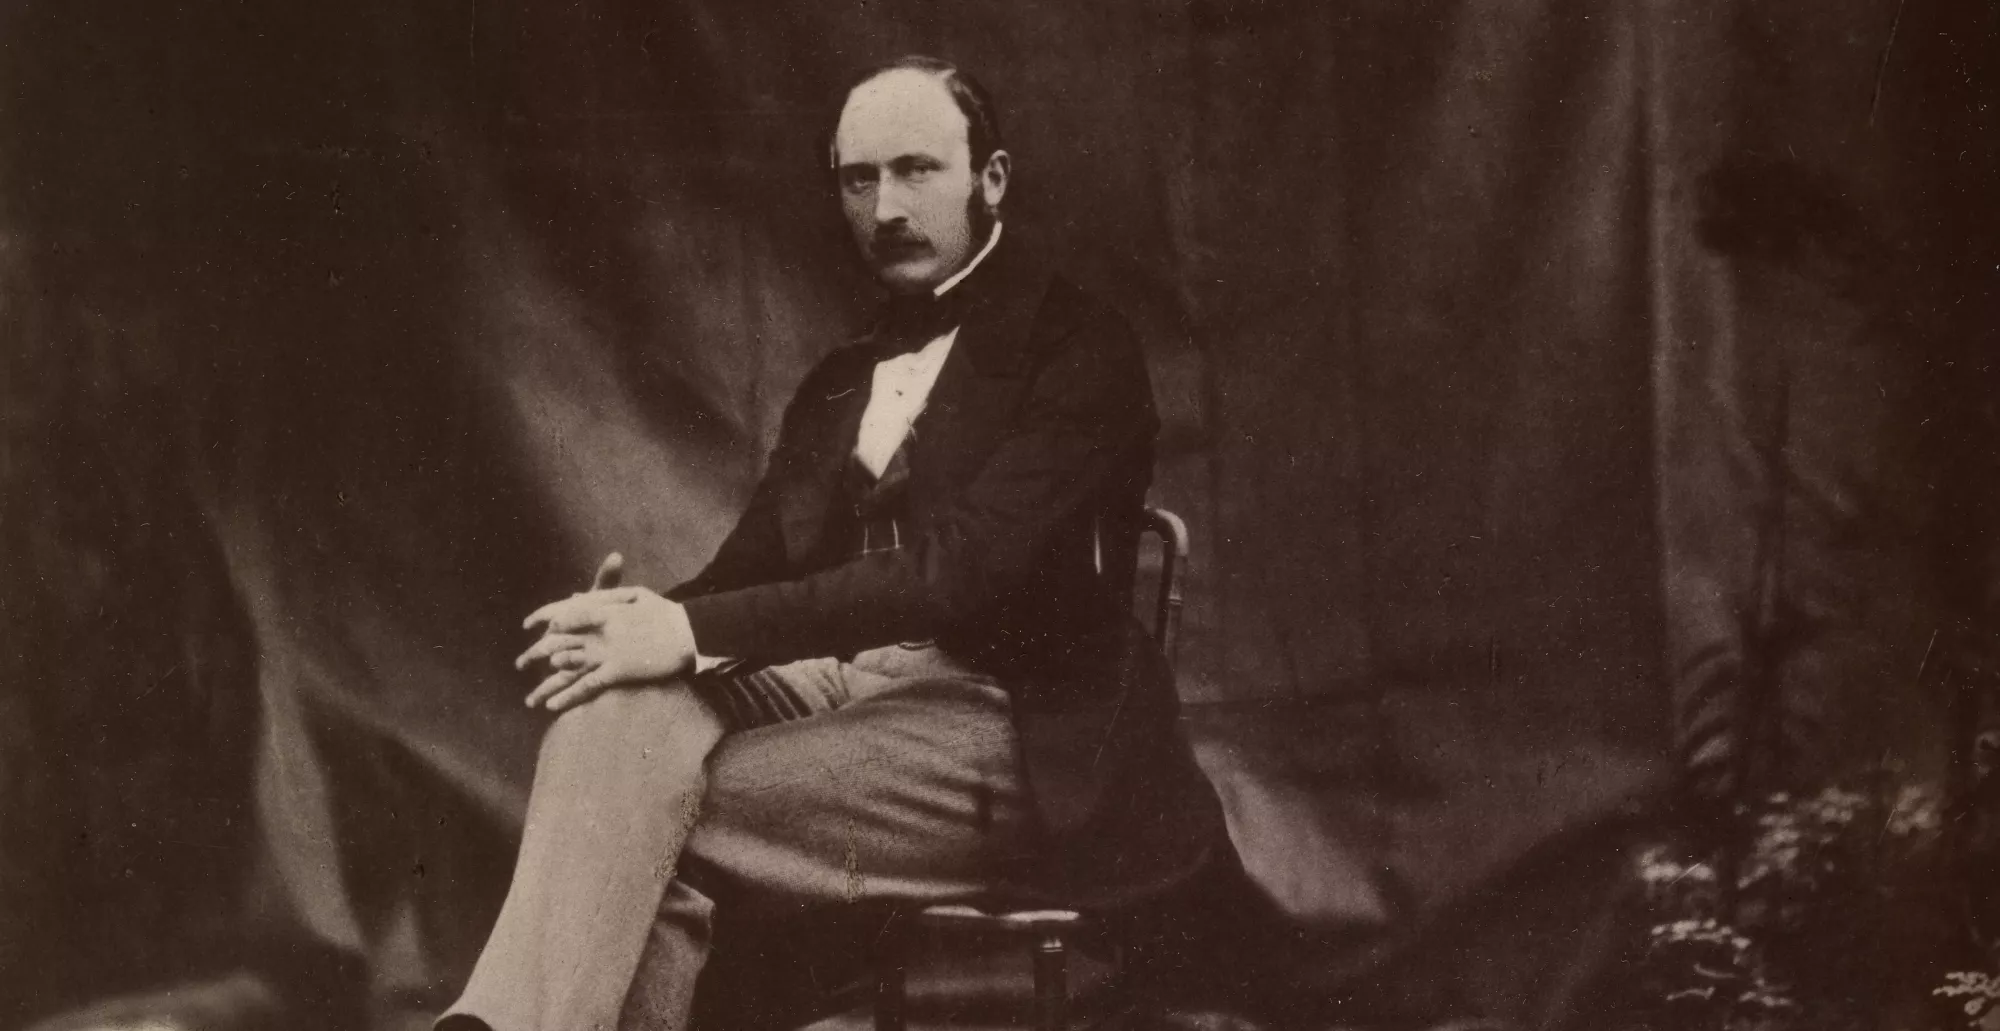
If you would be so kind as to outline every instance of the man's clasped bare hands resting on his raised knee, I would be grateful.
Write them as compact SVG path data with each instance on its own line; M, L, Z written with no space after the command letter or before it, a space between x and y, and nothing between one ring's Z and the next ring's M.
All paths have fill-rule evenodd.
M528 707L564 711L600 693L678 677L694 667L688 611L646 587L622 587L624 555L598 565L590 589L534 609L522 623L542 639L514 659L514 669L546 663L528 691Z

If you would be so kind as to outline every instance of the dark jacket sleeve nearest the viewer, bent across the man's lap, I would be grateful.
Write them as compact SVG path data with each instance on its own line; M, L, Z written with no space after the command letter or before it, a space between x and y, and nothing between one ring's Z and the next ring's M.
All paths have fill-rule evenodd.
M912 545L690 599L702 649L766 663L846 655L990 615L1060 527L1130 480L1156 432L1144 358L1114 316L1052 344L1032 376L984 468Z

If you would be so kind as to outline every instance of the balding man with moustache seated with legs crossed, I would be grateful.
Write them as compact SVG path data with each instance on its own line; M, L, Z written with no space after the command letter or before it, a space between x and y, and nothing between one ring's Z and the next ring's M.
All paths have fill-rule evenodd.
M698 979L710 1015L744 1001L724 961L806 941L736 923L874 913L728 1023L804 1019L888 905L1116 909L1224 847L1122 583L1158 426L1130 328L1002 232L998 116L950 64L860 78L828 154L892 300L806 376L700 575L622 587L614 555L530 615L528 703L562 715L444 1023L686 1027Z

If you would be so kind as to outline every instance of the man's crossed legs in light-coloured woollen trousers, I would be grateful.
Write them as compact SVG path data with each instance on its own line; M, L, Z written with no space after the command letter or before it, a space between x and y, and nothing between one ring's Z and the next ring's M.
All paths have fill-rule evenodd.
M796 673L746 677L802 701L734 733L768 707L682 683L556 719L506 905L440 1027L680 1029L714 939L710 893L742 915L838 919L978 895L1020 855L1030 821L992 679L926 649Z

